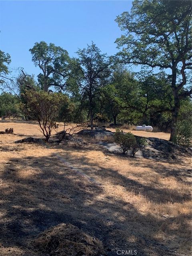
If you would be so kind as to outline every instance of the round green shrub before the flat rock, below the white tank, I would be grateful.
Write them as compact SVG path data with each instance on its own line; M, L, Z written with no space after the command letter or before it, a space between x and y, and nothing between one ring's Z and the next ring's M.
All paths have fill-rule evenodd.
M124 133L119 129L116 129L114 141L116 142L116 144L118 144L118 146L121 147L122 153L124 155L127 153L128 150L132 148L134 144L136 144L136 138L131 132Z

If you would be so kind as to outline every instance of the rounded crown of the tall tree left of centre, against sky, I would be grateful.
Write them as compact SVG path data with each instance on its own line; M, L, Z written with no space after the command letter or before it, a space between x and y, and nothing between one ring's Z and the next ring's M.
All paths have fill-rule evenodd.
M51 86L63 89L69 72L70 57L68 52L50 43L36 42L30 49L32 61L42 73L38 75L38 82L42 90L48 92Z

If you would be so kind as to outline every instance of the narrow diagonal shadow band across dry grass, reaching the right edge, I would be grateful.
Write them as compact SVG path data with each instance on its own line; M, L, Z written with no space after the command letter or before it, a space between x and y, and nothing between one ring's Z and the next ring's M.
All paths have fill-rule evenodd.
M70 153L70 150L68 150L67 158L64 154L61 154L61 156L63 156L64 159L70 159L70 162L72 163L76 162L76 157ZM95 177L100 177L100 178L110 178L110 182L112 182L114 185L121 185L124 188L126 188L126 190L133 191L134 194L136 195L139 195L142 192L143 196L145 196L152 202L174 203L174 202L183 202L185 200L191 199L190 191L188 194L180 194L176 189L157 188L154 186L147 186L147 185L141 184L136 180L127 178L126 176L120 174L118 170L113 170L110 168L104 168L103 166L100 166L99 162L97 164L93 164L86 158L86 156L78 157L78 161L80 162L80 166L78 166L78 169L83 171L86 170L86 173L88 173L89 176L94 175ZM154 169L154 166L152 166L152 164L146 164L143 166L143 168ZM154 171L161 174L162 176L165 176L164 172L166 168L164 168L163 165L158 165L158 168L159 169L155 169ZM171 171L169 172L169 174L170 175L172 174ZM166 173L166 175L168 176L168 173Z

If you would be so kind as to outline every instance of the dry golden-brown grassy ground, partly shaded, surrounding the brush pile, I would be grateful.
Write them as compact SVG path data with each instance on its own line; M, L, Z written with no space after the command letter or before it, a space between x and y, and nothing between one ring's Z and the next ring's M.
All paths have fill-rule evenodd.
M191 255L190 157L163 162L108 154L95 143L15 144L42 136L38 126L0 120L5 128L14 134L0 134L0 255L40 255L30 240L63 222L101 240L109 256Z

